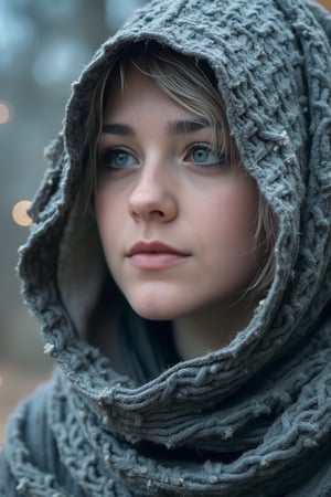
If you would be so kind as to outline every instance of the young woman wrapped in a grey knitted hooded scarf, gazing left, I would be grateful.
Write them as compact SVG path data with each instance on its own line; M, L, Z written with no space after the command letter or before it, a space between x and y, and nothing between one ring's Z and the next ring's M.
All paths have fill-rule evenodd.
M20 260L57 366L1 495L331 495L330 32L154 1L84 71Z

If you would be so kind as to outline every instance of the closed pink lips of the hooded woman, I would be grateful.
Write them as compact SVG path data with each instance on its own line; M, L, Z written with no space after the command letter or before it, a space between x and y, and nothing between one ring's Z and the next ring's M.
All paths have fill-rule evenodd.
M162 242L138 242L128 251L129 262L139 269L164 269L183 262L190 254Z

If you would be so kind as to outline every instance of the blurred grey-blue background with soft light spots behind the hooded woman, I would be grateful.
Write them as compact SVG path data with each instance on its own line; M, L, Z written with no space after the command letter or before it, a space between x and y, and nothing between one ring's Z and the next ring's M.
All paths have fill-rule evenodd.
M14 268L28 229L13 221L12 209L39 186L43 149L62 127L71 83L145 2L0 0L0 442L9 412L52 368L20 296ZM331 10L331 0L321 3Z

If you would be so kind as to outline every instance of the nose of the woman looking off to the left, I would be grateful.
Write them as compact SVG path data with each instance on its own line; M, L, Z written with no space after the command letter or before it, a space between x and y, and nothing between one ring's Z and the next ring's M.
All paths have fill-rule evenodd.
M175 186L166 168L162 163L141 167L129 199L129 212L137 221L169 222L177 216Z

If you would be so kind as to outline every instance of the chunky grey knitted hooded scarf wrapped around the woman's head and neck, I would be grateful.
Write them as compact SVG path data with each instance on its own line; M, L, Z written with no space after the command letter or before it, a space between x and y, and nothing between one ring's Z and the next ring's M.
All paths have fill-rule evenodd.
M83 72L19 267L57 366L12 417L1 496L331 496L330 39L331 17L306 0L157 0ZM190 361L164 359L128 318L118 373L86 338L105 263L79 200L79 149L99 75L142 40L213 70L277 218L276 275L247 328Z

